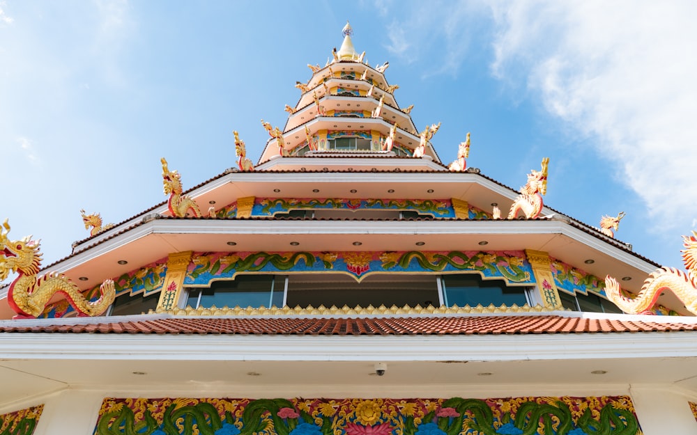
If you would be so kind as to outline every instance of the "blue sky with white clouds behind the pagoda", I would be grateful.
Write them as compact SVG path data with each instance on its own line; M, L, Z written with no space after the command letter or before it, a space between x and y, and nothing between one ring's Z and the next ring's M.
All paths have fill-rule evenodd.
M395 97L445 164L518 189L550 157L546 205L681 267L697 218L697 30L691 1L0 1L0 218L44 264L165 199L160 157L192 187L259 158L350 20L390 62Z

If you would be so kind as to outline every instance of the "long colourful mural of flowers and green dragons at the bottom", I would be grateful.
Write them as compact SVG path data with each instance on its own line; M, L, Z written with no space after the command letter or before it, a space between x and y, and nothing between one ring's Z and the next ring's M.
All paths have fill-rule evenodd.
M95 435L638 435L628 396L112 399Z

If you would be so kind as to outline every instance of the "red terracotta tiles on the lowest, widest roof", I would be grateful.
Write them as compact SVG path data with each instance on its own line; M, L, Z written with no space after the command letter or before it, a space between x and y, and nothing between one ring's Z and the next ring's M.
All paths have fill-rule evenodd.
M132 317L131 317L132 318ZM697 331L697 323L676 319L657 322L589 319L562 315L500 315L448 317L359 318L215 318L167 317L158 319L91 319L94 323L69 323L70 319L42 321L23 326L22 320L2 322L0 333L104 333L104 334L227 334L227 335L500 335L647 333Z

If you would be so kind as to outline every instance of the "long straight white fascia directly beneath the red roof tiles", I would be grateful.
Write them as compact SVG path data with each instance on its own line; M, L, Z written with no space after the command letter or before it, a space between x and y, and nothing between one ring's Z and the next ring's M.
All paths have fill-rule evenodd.
M27 338L31 337L31 340ZM4 358L90 361L521 361L695 358L692 331L527 335L3 333Z

